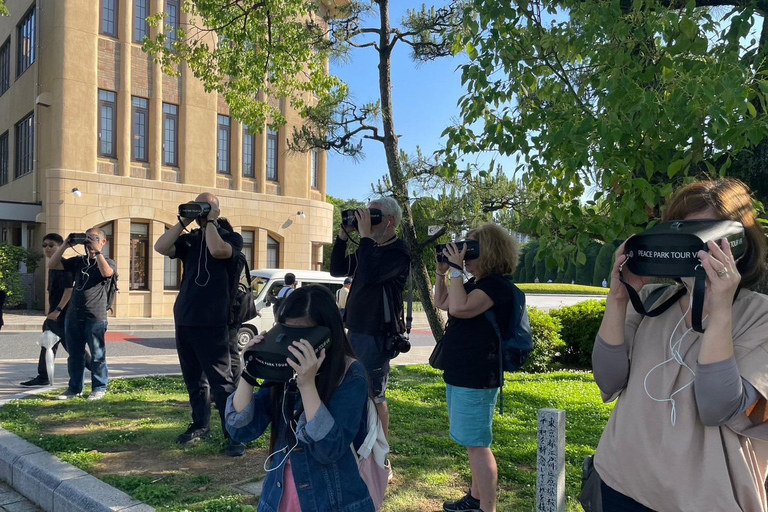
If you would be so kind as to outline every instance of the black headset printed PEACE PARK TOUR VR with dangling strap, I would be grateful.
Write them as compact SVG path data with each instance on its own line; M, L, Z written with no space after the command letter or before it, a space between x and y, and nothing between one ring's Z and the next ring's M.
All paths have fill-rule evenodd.
M744 226L732 220L676 220L662 222L642 233L631 237L624 246L627 259L619 268L619 275L626 265L637 276L679 279L696 278L693 286L693 329L704 332L701 326L704 308L704 291L707 274L701 266L698 252L709 252L710 240L728 240L734 260L738 261L746 252L747 240ZM623 277L629 298L635 311L641 315L655 317L672 306L685 294L681 288L672 297L652 311L647 311L634 288ZM648 304L651 305L650 303Z

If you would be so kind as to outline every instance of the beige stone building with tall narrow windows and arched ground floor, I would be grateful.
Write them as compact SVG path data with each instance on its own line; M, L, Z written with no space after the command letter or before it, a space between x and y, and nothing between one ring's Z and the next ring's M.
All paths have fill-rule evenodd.
M331 242L325 154L286 148L298 115L252 132L188 69L164 75L142 52L144 18L183 24L181 3L7 0L0 18L0 241L39 250L47 232L104 228L120 317L172 316L180 268L152 246L200 192L219 197L253 268L317 269Z

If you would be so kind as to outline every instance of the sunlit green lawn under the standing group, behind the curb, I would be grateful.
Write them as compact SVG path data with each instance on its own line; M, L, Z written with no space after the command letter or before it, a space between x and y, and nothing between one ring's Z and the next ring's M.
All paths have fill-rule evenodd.
M263 478L266 436L240 460L221 454L217 427L196 447L174 444L189 421L181 378L115 380L107 398L95 403L61 403L50 400L54 395L6 405L0 426L163 512L246 511L256 505L233 485ZM388 397L395 478L383 510L441 510L442 501L467 489L469 464L466 450L448 436L440 373L428 366L396 367ZM492 447L499 467L498 509L535 509L537 411L553 407L565 409L568 422L567 510L580 511L581 462L597 446L611 410L601 403L591 374L510 375L504 397L505 414L496 414Z

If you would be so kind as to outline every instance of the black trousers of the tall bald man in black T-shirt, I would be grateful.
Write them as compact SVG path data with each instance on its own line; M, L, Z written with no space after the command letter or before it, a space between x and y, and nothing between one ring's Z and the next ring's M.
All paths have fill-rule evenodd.
M219 410L221 429L227 398L235 391L230 366L229 328L176 326L176 350L179 352L181 375L187 385L192 424L206 428L211 422L211 395Z

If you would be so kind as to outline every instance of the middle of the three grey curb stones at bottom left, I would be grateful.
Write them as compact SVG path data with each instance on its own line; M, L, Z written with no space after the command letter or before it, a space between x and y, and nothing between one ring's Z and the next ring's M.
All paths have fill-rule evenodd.
M43 510L53 510L53 493L65 480L88 473L48 452L23 455L13 466L13 487Z

